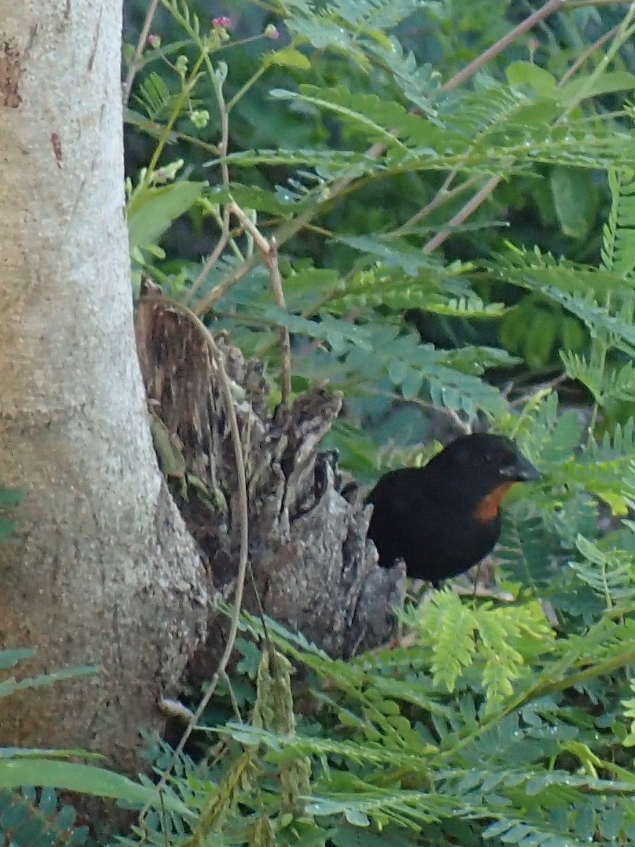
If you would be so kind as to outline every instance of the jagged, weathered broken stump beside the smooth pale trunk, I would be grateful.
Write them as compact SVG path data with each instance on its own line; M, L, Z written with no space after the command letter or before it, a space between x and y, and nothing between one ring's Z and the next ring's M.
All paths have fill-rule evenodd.
M224 591L235 579L240 512L227 410L204 335L178 306L149 297L136 318L151 407L177 458L167 470L185 523ZM262 368L217 339L233 384L246 457L250 563L265 611L333 656L387 641L402 600L402 567L377 565L366 541L369 510L342 490L336 457L319 452L341 398L316 388L268 411ZM164 463L164 467L166 467ZM177 494L177 496L179 496ZM247 605L257 611L249 581ZM214 632L214 612L210 617ZM196 657L197 678L215 669L216 645Z

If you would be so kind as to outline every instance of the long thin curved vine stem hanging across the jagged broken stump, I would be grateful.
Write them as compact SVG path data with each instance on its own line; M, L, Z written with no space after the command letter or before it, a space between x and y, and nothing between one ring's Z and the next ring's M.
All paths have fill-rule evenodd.
M223 651L223 656L221 656L220 661L218 662L218 668L216 669L216 673L214 673L213 678L210 680L209 688L205 692L205 695L203 695L201 702L196 707L196 711L194 712L193 716L191 717L191 720L185 727L185 731L181 736L181 739L179 740L179 744L176 746L176 749L169 757L168 764L163 769L161 778L157 783L157 792L159 792L160 794L165 788L165 785L168 781L169 772L174 766L174 762L183 752L187 739L190 738L192 731L194 730L194 728L196 728L196 723L199 721L203 711L205 711L207 707L207 704L212 699L213 693L216 690L216 686L218 685L218 680L226 672L227 665L229 664L229 657L231 656L232 650L234 650L235 639L236 635L238 634L238 621L240 617L240 607L242 606L243 590L245 588L245 577L247 573L247 562L249 555L249 516L245 457L243 455L242 445L240 444L240 429L238 427L238 419L236 418L234 396L232 394L231 386L229 385L229 376L225 369L223 353L220 351L212 333L209 331L209 329L207 329L205 324L203 324L202 321L196 317L196 315L191 311L191 309L185 307L182 303L174 302L173 300L170 300L168 297L164 296L148 296L145 297L144 300L146 300L146 302L151 301L163 303L170 308L176 309L181 314L184 314L186 318L189 318L192 321L192 323L196 326L196 329L198 329L199 332L202 333L202 336L207 342L207 349L209 350L210 357L212 358L213 363L218 371L218 379L220 381L221 393L223 395L225 412L229 420L231 442L234 450L236 476L238 478L238 521L240 530L240 548L238 556L238 574L236 576L235 582L234 612L229 623L229 634L227 636L227 643ZM146 814L150 809L150 805L151 802L146 803L146 805L141 810L141 820L146 817Z

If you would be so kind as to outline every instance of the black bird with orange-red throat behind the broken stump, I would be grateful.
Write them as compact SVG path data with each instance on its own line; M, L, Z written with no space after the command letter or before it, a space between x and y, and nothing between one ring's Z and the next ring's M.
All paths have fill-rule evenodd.
M379 564L406 562L413 579L433 585L469 570L500 535L500 501L516 482L539 473L501 435L461 435L424 468L400 468L379 479L367 502Z

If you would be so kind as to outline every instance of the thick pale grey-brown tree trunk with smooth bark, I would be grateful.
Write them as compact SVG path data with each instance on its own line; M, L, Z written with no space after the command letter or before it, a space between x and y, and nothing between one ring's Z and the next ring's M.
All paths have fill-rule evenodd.
M202 637L202 562L152 451L124 221L121 3L0 0L0 645L94 678L2 700L0 745L134 769Z

